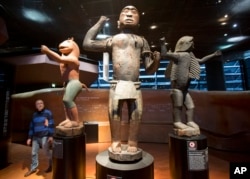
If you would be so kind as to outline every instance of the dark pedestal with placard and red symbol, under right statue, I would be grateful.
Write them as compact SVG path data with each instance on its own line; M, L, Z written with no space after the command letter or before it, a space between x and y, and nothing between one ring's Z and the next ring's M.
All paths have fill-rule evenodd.
M173 179L208 179L207 138L169 134L170 174Z

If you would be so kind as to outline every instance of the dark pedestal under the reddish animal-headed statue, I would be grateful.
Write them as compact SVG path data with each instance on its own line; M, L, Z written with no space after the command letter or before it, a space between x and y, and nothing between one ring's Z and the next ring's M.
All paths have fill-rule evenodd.
M85 134L55 135L53 141L53 179L85 179Z

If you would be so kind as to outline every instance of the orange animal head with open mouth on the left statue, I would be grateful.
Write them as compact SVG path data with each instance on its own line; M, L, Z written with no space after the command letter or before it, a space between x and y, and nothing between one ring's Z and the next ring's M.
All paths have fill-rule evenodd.
M63 41L59 44L59 51L64 54L73 54L75 56L80 55L80 49L77 45L77 43L74 41L74 38L68 38L68 40Z

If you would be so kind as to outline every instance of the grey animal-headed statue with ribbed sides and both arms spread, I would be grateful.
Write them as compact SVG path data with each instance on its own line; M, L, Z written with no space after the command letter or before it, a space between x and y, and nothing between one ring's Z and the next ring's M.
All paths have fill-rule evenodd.
M175 51L167 51L165 38L160 39L161 57L170 60L165 71L166 78L171 81L171 100L173 106L174 131L178 136L195 136L200 134L199 126L194 122L194 102L188 92L191 79L200 78L200 64L215 56L216 51L198 59L193 54L194 42L192 36L181 37L175 46ZM182 122L182 109L186 108L186 123Z

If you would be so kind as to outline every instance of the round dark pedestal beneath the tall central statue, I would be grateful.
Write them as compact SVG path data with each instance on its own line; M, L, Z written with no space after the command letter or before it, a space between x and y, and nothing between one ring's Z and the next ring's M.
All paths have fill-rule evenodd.
M154 158L143 151L134 163L117 163L109 159L108 150L96 156L96 179L154 179Z

